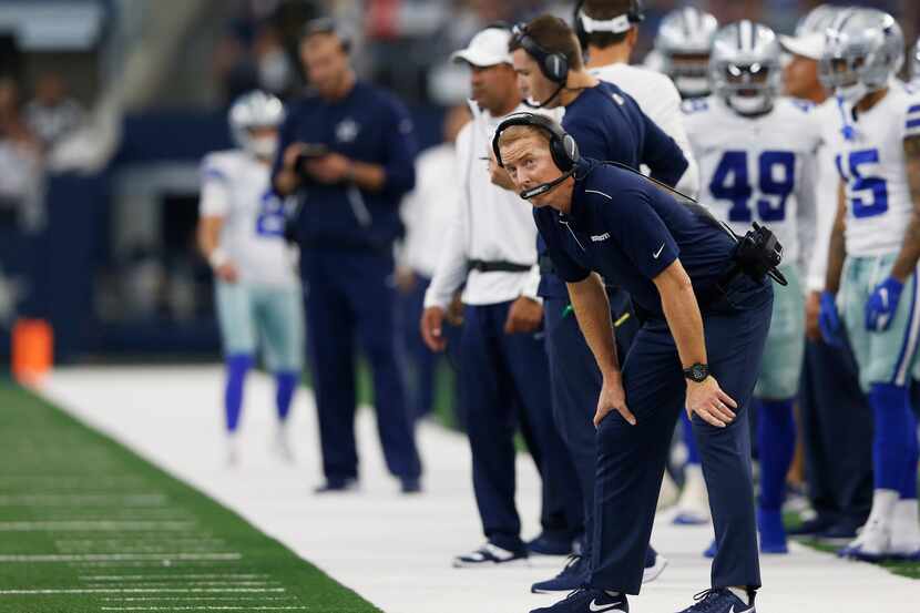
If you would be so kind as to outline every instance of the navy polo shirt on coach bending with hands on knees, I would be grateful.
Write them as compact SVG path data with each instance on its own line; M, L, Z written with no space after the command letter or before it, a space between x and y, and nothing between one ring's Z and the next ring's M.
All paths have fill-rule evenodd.
M648 180L593 160L580 163L568 215L543 207L533 216L563 280L596 272L651 316L664 316L652 279L678 257L697 295L732 265L735 243L712 219Z

